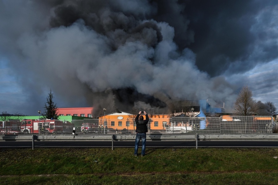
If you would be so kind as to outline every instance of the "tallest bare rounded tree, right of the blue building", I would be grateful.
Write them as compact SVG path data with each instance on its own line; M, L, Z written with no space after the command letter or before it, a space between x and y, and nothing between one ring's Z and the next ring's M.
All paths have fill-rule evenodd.
M258 112L259 106L252 98L252 91L248 86L242 87L234 103L234 113L239 116L251 116Z

